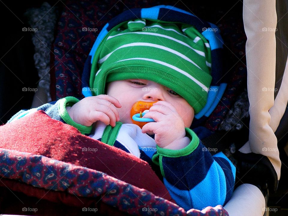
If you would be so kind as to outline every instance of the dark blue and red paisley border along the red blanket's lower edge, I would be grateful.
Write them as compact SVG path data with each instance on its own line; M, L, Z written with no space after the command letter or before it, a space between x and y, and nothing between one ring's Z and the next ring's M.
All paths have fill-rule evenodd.
M67 191L101 201L131 215L228 216L221 205L187 212L148 190L135 187L105 173L75 166L41 155L0 148L0 176L17 179L34 187ZM98 199L95 199L97 202Z

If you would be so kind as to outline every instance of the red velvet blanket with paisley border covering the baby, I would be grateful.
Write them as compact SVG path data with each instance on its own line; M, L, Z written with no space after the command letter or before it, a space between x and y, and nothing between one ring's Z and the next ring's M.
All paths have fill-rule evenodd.
M146 161L82 135L43 111L2 125L0 137L1 190L46 200L50 210L60 203L61 208L100 214L228 215L220 205L185 212ZM24 210L32 209L22 204ZM13 210L0 213L19 214L23 209ZM39 208L36 214L45 215L41 212Z

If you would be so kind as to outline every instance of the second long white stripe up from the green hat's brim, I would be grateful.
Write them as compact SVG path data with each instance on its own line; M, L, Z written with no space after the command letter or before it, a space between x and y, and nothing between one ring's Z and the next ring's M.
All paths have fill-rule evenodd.
M124 47L129 47L129 46L151 46L151 47L155 47L155 48L158 48L158 49L164 49L168 52L171 52L175 55L178 55L179 57L181 58L184 58L185 60L189 61L190 63L194 64L196 67L198 67L200 70L201 67L199 67L194 61L192 61L190 58L188 58L186 55L183 55L181 52L178 52L174 49L170 49L166 46L161 46L161 45L158 45L158 44L151 44L151 43L144 43L144 42L136 42L136 43L131 43L131 44L124 44L122 46L119 46L117 49L121 49L121 48L124 48ZM109 58L110 55L112 55L113 52L115 52L117 49L113 50L112 52L110 52L109 54L105 55L103 58L99 59L98 63L99 64L102 64L104 61L107 60L107 58Z

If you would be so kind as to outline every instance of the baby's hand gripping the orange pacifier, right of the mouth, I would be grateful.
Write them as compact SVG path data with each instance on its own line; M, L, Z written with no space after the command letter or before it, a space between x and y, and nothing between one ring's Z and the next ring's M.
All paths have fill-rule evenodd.
M144 125L142 133L153 132L155 134L155 142L159 147L181 149L189 144L187 143L189 138L185 137L184 121L181 116L179 116L176 108L169 102L157 101L150 107L149 113L146 113L143 118L151 118L156 121ZM184 137L186 139L183 139ZM185 141L186 144L184 144L183 141ZM179 148L177 148L178 143ZM172 144L172 146L170 144Z

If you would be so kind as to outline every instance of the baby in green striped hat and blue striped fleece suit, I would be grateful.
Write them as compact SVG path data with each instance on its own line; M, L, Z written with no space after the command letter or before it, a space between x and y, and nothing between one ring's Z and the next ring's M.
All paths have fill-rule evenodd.
M136 19L110 29L91 53L93 95L84 88L82 100L66 97L34 111L157 166L186 211L224 205L234 189L235 167L222 152L212 156L190 129L212 79L205 37L188 24ZM156 101L143 116L155 122L142 129L130 116L137 101ZM25 113L12 119L19 115Z

